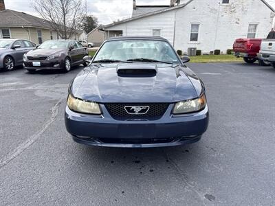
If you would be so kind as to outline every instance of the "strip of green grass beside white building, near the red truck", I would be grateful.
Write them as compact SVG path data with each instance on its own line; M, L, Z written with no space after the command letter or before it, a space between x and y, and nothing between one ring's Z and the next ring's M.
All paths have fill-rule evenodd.
M209 63L209 62L242 62L243 58L236 58L234 55L201 55L190 56L192 63Z

